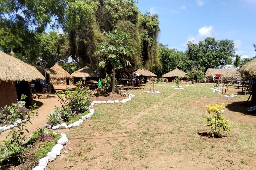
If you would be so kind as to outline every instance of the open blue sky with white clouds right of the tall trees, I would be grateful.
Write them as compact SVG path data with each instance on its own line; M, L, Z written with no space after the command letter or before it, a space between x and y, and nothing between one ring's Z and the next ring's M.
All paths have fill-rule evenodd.
M242 58L256 55L256 0L139 0L141 13L159 15L160 40L186 50L206 37L233 40Z

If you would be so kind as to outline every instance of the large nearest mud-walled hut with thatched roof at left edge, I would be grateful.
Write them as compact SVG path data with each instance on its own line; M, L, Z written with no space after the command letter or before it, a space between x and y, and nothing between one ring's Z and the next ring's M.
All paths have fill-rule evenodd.
M44 80L44 76L35 67L2 51L0 60L0 107L17 102L22 94L28 96L25 99L26 106L31 106L33 99L30 82L35 79Z

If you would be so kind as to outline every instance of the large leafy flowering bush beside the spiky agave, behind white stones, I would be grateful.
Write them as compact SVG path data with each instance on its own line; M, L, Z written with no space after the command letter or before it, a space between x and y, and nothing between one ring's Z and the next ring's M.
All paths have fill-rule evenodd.
M75 91L70 91L67 87L65 91L57 93L63 111L65 111L65 114L71 114L71 117L73 114L69 110L76 115L79 113L84 113L87 110L87 107L90 106L90 98L92 96L92 92L90 91L89 87L84 87L82 85L82 81L77 82L77 86L74 90ZM65 116L66 120L69 118L70 117L67 115Z

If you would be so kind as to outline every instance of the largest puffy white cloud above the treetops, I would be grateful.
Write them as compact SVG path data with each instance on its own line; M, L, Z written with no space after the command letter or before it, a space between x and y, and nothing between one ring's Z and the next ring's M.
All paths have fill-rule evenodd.
M191 41L194 43L198 43L199 41L203 41L206 37L213 37L213 35L212 35L213 32L214 32L213 26L211 26L211 25L209 27L203 26L202 28L200 28L198 30L197 36L193 36L190 34L187 38L187 42ZM187 42L182 44L182 46L186 46Z

